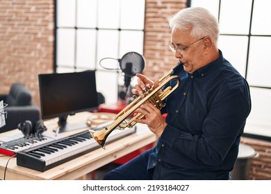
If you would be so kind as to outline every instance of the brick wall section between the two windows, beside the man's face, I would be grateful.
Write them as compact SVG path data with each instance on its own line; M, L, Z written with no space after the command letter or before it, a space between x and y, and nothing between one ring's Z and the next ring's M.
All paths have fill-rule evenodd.
M145 10L145 73L149 78L161 78L179 61L170 51L170 28L167 17L186 7L186 0L146 0Z

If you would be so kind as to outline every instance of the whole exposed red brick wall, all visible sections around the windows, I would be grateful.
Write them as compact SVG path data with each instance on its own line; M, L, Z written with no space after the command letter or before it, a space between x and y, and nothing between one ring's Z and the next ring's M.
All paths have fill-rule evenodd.
M167 17L184 8L186 0L146 0L145 74L161 78L178 60L168 48ZM54 0L0 0L0 94L22 82L39 105L38 74L53 72ZM252 159L249 179L271 179L271 143L242 139L260 156Z

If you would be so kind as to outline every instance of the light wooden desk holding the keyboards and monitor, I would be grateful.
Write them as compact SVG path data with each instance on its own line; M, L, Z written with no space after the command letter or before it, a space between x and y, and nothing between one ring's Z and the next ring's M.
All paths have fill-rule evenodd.
M86 122L90 116L88 112L82 112L74 116L69 116L67 122L69 123L78 123ZM48 130L54 130L57 126L58 119L51 119L49 121L44 121L44 125L47 126ZM10 159L10 157L0 157L0 179L3 179L4 170L8 159L8 168L6 170L6 179L24 179L24 180L33 180L33 179L77 179L86 175L101 166L104 166L115 159L123 157L139 148L142 148L149 143L154 143L156 141L156 136L149 131L146 125L138 123L137 132L126 136L120 140L117 140L113 143L106 144L106 150L98 148L88 152L81 157L67 161L64 164L51 168L43 173L32 170L29 168L24 168L22 166L17 166L16 158ZM64 132L60 135L69 136L71 134L83 132L88 130L88 128L83 128L81 130ZM5 133L0 134L5 135Z

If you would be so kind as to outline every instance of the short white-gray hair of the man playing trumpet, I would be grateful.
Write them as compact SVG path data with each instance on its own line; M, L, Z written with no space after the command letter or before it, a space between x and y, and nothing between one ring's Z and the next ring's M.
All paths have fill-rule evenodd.
M217 19L205 8L185 8L169 19L170 28L191 30L191 36L201 38L210 36L215 46L219 36Z

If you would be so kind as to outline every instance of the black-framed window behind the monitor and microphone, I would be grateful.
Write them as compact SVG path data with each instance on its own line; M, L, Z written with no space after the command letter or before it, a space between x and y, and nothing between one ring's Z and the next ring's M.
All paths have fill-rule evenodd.
M120 72L103 69L99 61L142 54L144 21L145 0L57 0L55 71L95 70L97 91L106 103L116 103ZM119 67L117 60L103 64Z

